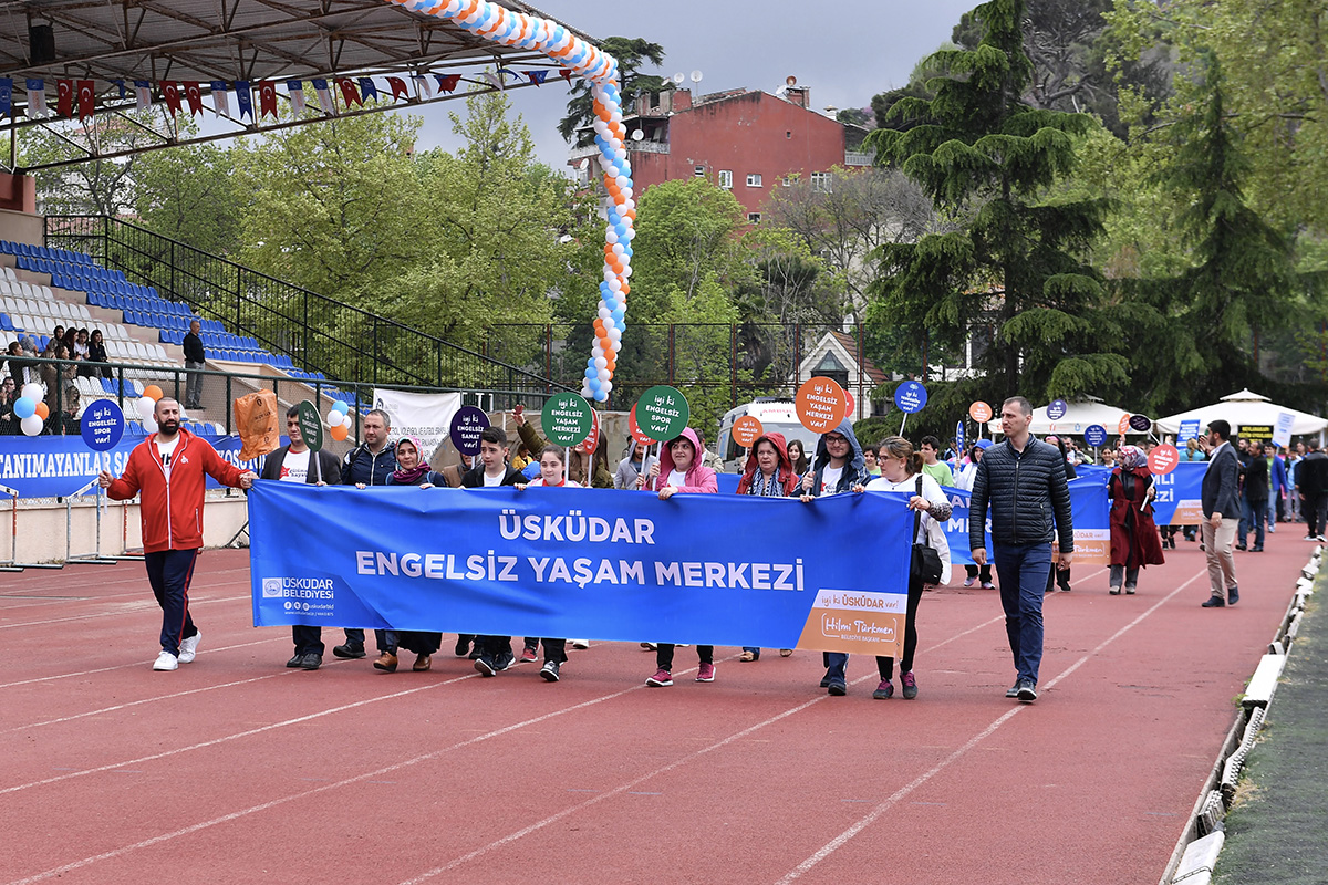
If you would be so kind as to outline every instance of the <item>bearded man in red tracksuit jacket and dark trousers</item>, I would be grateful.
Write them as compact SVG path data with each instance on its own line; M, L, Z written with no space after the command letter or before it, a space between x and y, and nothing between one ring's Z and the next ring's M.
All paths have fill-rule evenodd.
M216 482L248 488L258 478L228 463L206 439L179 426L179 403L163 397L153 411L158 433L129 452L125 472L116 479L102 471L98 483L114 500L142 494L143 559L147 581L162 606L162 650L153 670L175 670L198 651L199 633L189 616L189 582L203 545L203 474Z

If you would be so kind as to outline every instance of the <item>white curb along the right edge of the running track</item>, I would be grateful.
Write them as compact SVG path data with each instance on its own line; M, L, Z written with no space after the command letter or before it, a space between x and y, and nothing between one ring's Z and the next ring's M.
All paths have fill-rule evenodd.
M1240 698L1240 713L1227 731L1222 751L1194 803L1190 820L1175 851L1171 852L1171 860L1158 885L1178 882L1207 885L1212 880L1212 869L1226 841L1222 821L1235 799L1240 771L1263 727L1268 705L1272 703L1272 695L1278 689L1278 679L1287 666L1287 655L1300 630L1305 601L1315 592L1313 580L1321 560L1323 547L1315 547L1313 555L1300 572L1300 580L1296 581L1296 592L1291 605L1287 606L1287 614L1268 644L1268 654L1259 661L1259 667Z

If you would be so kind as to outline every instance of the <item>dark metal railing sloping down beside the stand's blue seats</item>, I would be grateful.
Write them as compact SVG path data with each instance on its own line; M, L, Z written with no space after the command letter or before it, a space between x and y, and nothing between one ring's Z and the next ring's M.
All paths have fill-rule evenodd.
M131 283L251 336L295 365L364 385L551 393L559 387L405 324L101 215L45 219L48 245L92 255Z

